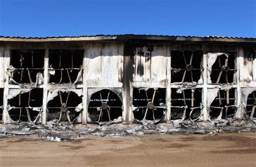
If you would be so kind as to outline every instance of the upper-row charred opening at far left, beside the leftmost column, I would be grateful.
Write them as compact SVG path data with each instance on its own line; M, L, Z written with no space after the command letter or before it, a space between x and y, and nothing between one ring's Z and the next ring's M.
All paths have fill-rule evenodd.
M10 75L17 83L35 83L37 74L44 71L44 50L11 50Z

